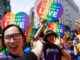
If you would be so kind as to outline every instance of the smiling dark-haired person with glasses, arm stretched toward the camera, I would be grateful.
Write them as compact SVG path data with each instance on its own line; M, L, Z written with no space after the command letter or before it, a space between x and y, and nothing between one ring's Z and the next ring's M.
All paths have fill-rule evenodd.
M23 51L25 47L25 37L19 28L19 26L11 24L4 28L2 33L2 43L4 49L8 48L9 53L5 55L0 54L0 58L19 58L26 55L26 59L37 60L43 49L43 44L38 40L36 41L37 46L31 50L30 53ZM39 50L37 50L39 49ZM6 50L5 50L6 52ZM25 60L26 60L25 59ZM22 59L24 60L24 59Z

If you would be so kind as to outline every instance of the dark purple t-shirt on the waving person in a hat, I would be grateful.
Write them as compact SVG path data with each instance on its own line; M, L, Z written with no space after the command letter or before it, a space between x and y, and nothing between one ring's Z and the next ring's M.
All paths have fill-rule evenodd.
M44 49L44 60L61 60L61 50L56 45L48 45Z

